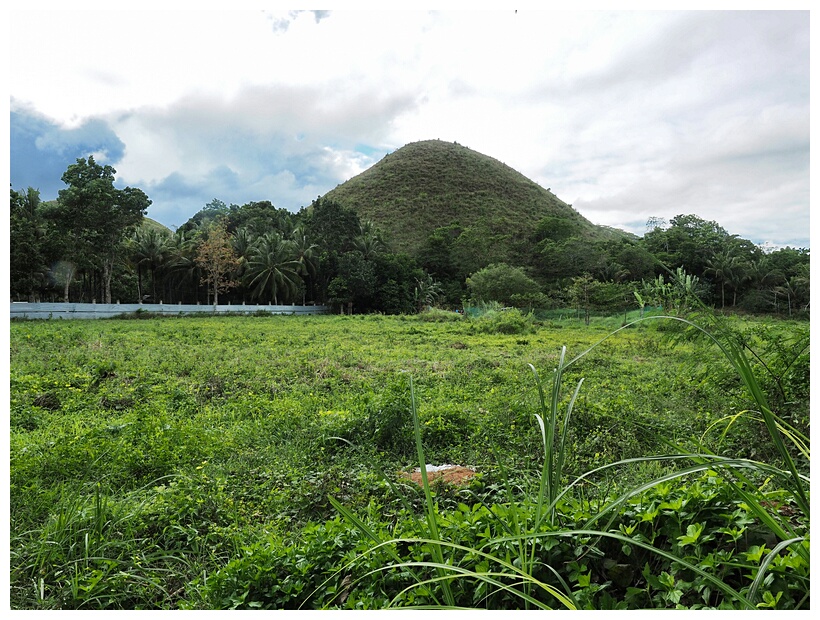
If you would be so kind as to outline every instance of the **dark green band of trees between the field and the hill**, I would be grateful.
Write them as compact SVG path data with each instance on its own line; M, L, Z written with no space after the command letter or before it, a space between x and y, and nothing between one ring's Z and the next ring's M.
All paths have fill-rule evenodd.
M808 249L765 251L691 214L652 218L641 238L592 238L557 216L516 239L448 223L411 256L322 198L296 213L214 199L171 232L149 225L151 201L116 189L115 174L89 157L68 167L55 201L11 189L12 301L316 303L387 314L497 302L588 317L662 304L677 282L721 309L796 316L809 304Z

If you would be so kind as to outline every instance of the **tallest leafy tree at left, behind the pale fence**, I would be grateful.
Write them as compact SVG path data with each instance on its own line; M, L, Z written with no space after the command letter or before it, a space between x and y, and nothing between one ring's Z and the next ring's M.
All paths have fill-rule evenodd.
M117 248L127 232L142 221L151 204L140 189L116 189L116 172L89 157L78 159L62 176L68 187L59 191L53 216L67 237L65 301L77 269L87 267L102 272L103 301L111 303L111 275Z

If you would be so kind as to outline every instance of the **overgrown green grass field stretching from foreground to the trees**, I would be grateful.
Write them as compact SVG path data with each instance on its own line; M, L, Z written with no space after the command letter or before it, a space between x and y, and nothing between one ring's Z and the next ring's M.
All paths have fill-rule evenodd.
M808 513L716 347L669 323L619 331L563 370L555 411L572 420L545 440L528 364L549 395L562 347L571 360L622 320L13 322L12 608L808 608ZM808 349L782 343L808 324L735 329L807 436ZM470 486L399 476L417 438L428 463L474 468ZM565 492L547 507L552 444ZM805 458L789 445L807 477L807 440ZM633 493L682 467L645 457L707 450L772 471L690 458ZM593 525L606 535L567 534Z

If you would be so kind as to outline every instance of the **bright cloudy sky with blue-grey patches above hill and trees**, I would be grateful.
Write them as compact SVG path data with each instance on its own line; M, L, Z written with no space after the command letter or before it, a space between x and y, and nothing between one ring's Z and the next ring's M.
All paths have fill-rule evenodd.
M171 228L214 198L296 211L438 138L596 224L810 245L808 11L14 4L10 182L46 200L93 154Z

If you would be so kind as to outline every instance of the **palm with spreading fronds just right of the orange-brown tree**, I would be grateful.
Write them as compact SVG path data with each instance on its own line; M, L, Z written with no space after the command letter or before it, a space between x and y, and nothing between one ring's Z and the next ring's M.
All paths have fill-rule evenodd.
M294 292L299 282L300 263L295 258L294 244L278 232L269 232L257 239L245 272L251 296L262 298L267 291L273 303L279 305L279 293Z

